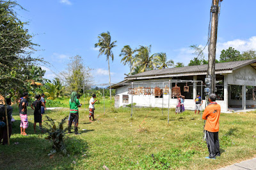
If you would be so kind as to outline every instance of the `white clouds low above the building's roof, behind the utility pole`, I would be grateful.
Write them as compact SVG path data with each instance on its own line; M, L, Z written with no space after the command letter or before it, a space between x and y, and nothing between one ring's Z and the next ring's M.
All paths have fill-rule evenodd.
M202 48L205 47L205 45L199 45L199 46ZM240 52L251 50L251 49L256 50L256 36L252 36L247 40L236 39L228 42L217 43L216 59L220 59L221 50L227 50L228 47L233 47L234 49L239 50ZM189 61L196 57L195 54L193 54L194 50L189 47L184 47L175 51L177 51L177 55L173 59L175 63L182 62L185 65L188 65ZM203 52L205 55L205 59L207 59L208 47L205 47Z

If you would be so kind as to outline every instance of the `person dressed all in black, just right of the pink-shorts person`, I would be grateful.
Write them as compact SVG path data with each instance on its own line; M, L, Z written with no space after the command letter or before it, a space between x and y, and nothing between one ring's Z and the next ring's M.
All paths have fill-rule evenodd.
M44 106L44 103L41 101L41 96L36 95L36 100L31 104L31 108L34 110L34 132L36 133L36 123L39 123L39 126L42 127L42 113L41 106Z

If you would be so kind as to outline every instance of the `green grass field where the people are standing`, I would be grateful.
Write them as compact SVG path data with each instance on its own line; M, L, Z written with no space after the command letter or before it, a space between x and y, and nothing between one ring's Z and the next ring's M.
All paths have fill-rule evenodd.
M256 112L221 113L221 157L206 160L204 121L192 111L175 115L170 109L168 125L167 109L162 116L158 108L134 108L131 119L129 107L115 109L108 105L106 114L103 114L100 100L100 104L95 105L96 121L90 123L87 107L86 111L83 106L79 111L81 135L66 135L69 157L47 155L52 145L44 139L45 134L33 133L31 109L29 136L21 136L20 118L15 110L13 117L17 121L13 124L11 144L0 146L0 169L102 169L104 165L109 169L217 169L256 154ZM46 114L60 121L69 112L61 109Z

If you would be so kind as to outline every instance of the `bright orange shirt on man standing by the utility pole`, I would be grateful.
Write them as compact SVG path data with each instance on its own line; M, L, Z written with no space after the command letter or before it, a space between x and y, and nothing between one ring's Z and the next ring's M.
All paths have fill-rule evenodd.
M204 129L209 132L219 132L220 128L220 105L216 102L211 102L205 110L202 116L203 120L206 120Z

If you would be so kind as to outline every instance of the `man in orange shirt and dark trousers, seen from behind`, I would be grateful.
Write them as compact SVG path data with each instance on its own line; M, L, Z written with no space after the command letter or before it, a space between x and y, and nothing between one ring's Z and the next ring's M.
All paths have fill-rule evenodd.
M220 105L216 101L217 96L215 94L209 95L210 104L205 108L202 118L206 120L205 133L206 143L209 150L209 157L220 157L220 143L219 143L219 128L220 128Z

